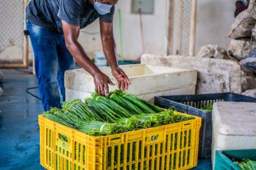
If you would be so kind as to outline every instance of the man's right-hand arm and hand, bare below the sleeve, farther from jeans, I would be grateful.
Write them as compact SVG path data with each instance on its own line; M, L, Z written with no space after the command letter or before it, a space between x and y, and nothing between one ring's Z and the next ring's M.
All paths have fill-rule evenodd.
M100 35L102 39L102 47L107 58L107 62L111 67L114 78L118 81L118 87L127 90L131 82L125 72L118 67L116 57L116 44L114 41L113 23L100 21Z

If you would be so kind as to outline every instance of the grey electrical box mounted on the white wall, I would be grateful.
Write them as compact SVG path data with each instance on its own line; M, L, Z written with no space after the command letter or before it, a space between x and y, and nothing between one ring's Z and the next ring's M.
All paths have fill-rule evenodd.
M154 13L154 0L132 0L132 13Z

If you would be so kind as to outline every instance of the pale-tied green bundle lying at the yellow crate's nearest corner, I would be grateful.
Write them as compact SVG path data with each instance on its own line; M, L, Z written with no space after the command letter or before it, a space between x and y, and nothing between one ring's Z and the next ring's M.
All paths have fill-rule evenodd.
M93 136L111 135L118 132L116 124L100 121L84 122L78 127L78 130Z

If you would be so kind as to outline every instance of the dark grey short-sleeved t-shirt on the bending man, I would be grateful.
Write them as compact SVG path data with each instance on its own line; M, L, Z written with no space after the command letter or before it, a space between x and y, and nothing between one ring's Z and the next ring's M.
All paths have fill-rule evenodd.
M114 6L110 13L100 15L88 0L32 0L26 7L26 15L37 26L63 33L62 20L81 29L98 17L100 21L112 23Z

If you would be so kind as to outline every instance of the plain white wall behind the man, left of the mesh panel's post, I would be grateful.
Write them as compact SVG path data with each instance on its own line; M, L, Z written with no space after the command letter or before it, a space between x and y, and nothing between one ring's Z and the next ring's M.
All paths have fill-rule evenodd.
M145 42L145 51L143 51L140 15L131 13L131 0L118 1L114 15L114 37L116 39L117 52L120 54L118 30L118 9L120 9L122 11L123 53L125 60L136 60L144 52L158 55L166 53L167 2L168 0L155 0L154 14L142 15ZM89 32L99 31L98 21L87 26L84 30ZM102 49L99 34L88 35L82 32L79 40L90 55L93 55L94 51Z

